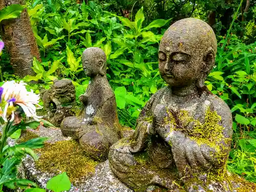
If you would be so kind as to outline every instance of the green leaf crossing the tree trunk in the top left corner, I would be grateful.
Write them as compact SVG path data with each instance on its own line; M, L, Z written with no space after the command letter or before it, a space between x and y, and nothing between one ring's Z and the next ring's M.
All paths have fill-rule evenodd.
M0 23L4 19L16 18L22 13L26 5L12 4L0 10Z

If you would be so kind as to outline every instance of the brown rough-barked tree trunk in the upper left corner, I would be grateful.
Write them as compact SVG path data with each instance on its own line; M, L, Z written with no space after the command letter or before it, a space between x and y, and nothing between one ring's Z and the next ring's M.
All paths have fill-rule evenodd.
M0 0L0 9L11 4L22 4L23 0ZM4 20L2 23L2 37L10 55L10 63L14 74L23 78L26 75L35 75L32 70L33 57L40 60L39 50L30 25L27 9L20 17Z

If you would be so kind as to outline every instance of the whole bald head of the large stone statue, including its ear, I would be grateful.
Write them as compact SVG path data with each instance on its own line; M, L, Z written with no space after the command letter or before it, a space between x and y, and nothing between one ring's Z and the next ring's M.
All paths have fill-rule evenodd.
M215 64L217 40L211 27L197 18L178 20L164 33L159 46L159 71L172 87L204 80Z

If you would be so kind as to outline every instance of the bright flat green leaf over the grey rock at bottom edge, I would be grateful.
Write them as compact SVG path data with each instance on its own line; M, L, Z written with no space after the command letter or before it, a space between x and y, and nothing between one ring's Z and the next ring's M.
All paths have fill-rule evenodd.
M46 188L54 192L68 191L71 188L71 182L66 172L64 172L50 179Z

